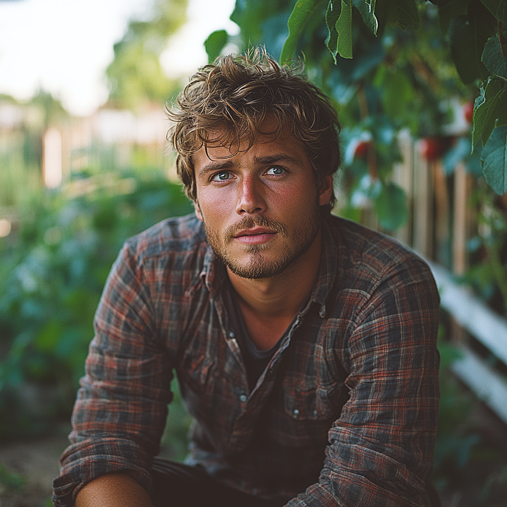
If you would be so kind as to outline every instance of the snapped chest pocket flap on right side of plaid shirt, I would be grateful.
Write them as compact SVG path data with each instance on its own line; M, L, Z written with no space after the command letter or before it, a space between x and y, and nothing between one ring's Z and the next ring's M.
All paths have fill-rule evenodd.
M348 399L343 382L309 387L300 381L283 381L285 414L294 420L325 421L337 419Z

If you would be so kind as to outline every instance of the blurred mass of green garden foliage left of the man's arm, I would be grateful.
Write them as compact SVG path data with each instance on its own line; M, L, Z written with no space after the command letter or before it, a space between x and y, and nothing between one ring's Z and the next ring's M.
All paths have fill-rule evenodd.
M68 419L107 274L123 242L191 205L160 172L34 192L0 238L0 437Z

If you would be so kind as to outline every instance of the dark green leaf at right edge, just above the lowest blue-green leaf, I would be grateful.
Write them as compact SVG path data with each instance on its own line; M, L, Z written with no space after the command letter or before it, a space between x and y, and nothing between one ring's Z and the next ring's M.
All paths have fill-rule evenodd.
M481 94L476 98L474 106L474 131L472 132L472 146L482 139L483 146L495 128L499 116L499 104L505 98L505 82L501 79L490 79L486 89L481 88Z

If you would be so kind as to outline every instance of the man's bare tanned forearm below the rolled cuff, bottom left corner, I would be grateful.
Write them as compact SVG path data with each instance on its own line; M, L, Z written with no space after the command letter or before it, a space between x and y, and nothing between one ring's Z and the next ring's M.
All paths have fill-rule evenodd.
M150 496L128 474L109 474L88 483L76 497L76 507L153 507Z

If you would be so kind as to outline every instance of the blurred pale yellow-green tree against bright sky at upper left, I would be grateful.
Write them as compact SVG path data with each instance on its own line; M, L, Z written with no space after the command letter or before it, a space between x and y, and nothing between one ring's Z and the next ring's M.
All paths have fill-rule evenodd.
M168 78L160 54L169 37L186 21L187 0L155 0L148 19L131 20L106 69L110 102L135 109L146 102L165 103L179 83Z

